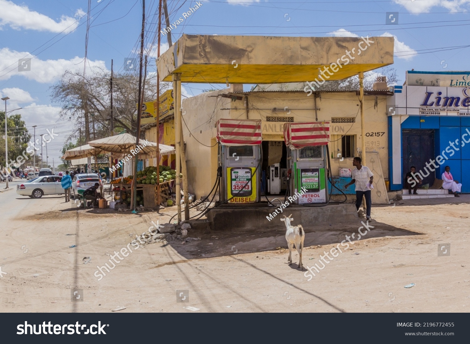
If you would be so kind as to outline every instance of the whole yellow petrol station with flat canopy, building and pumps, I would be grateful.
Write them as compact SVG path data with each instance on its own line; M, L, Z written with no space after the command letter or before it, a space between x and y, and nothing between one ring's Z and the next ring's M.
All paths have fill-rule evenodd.
M346 54L351 59L345 59ZM351 158L361 155L364 165L376 163L381 175L377 182L382 186L376 194L388 201L384 182L388 171L384 108L388 91L364 92L362 80L364 72L392 63L392 37L183 35L158 58L157 69L162 81L173 81L176 169L178 176L181 161L185 191L190 189L196 198L207 195L222 176L220 188L226 191L221 193L222 202L256 203L261 186L275 192L282 189L283 185L268 180L280 178L287 169L292 174L288 187L291 195L299 186L308 185L310 193L318 196L322 188L328 188L324 178L327 164L336 172L340 167L351 168ZM328 68L329 76L325 76ZM313 89L314 95L309 96L305 90L243 92L242 86L312 84L322 76L342 80L355 75L360 78L359 92ZM181 82L225 83L230 89L181 103ZM237 135L240 139L230 138ZM369 154L367 144L375 153ZM263 170L266 182L259 183ZM249 176L240 178L246 181L242 190L234 188L238 173ZM250 197L244 195L247 191ZM178 206L179 192L177 181ZM241 193L243 197L239 197ZM315 202L326 203L321 196Z

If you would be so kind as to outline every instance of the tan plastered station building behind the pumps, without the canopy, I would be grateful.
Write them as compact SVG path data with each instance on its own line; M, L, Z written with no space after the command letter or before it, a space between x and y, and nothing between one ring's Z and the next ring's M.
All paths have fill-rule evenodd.
M280 190L271 190L267 181L265 189L270 194L282 194L287 185L282 178L288 170L288 154L284 140L285 123L328 122L329 158L333 180L337 187L347 194L353 194L354 187L344 190L342 186L351 178L339 178L340 168L352 168L352 158L360 156L361 125L357 91L318 92L318 98L308 97L303 91L304 84L290 85L298 91L278 91L277 85L270 85L264 91L243 92L243 85L231 85L224 91L213 91L183 99L183 132L186 143L188 178L190 192L196 198L209 194L217 178L219 146L217 144L217 122L220 119L261 121L261 171L274 168L279 176ZM270 91L275 90L275 91ZM389 90L366 91L364 94L364 115L366 150L376 151L381 164L382 178L388 177L388 123L387 97ZM317 111L315 111L315 103ZM188 128L191 129L189 132ZM235 151L234 151L235 153ZM227 157L230 160L235 157ZM238 159L240 161L240 158ZM236 162L236 161L234 161ZM372 168L371 164L368 164ZM276 168L278 171L276 172ZM378 171L374 171L375 174ZM266 173L265 173L266 175ZM376 175L375 181L380 182ZM266 180L266 176L264 180ZM341 183L342 182L342 183ZM384 182L384 180L383 180ZM340 192L333 188L333 195Z

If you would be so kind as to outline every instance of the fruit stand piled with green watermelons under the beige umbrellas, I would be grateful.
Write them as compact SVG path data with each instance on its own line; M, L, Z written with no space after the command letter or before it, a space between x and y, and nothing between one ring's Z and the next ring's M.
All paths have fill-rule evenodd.
M162 202L166 203L171 200L170 195L176 179L176 171L169 166L159 166L158 168L160 172L159 183L157 183L157 167L149 166L143 171L137 172L137 205L154 208ZM111 191L114 192L114 200L130 205L132 179L133 176L128 176L111 182L115 184L111 188Z

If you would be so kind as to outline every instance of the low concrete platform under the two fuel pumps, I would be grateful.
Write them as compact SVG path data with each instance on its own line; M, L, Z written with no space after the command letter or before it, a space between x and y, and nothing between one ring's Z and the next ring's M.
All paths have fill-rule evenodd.
M212 209L206 216L212 230L252 229L254 227L275 228L284 227L281 221L283 215L292 214L293 225L301 224L304 227L319 224L335 223L339 221L357 221L359 216L354 204L330 204L321 207L289 206L279 210L280 214L268 219L275 212L274 207L265 204L251 206L225 206Z

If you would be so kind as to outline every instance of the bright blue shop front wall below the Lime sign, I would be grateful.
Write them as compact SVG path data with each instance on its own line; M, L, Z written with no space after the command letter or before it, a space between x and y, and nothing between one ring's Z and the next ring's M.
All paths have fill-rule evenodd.
M421 122L421 120L424 122ZM389 117L388 123L389 138L392 138L391 117ZM441 155L444 159L447 157L442 166L436 169L436 178L441 179L444 167L449 166L454 179L462 183L462 192L470 193L470 179L467 179L470 171L470 143L466 144L462 141L462 136L470 132L470 118L458 116L409 116L401 123L401 129L434 129L435 156ZM456 141L457 139L458 141ZM470 140L470 135L467 135L464 139ZM389 140L389 155L392 155L392 145L401 145L401 141L401 136L400 142L392 142L392 139ZM454 143L455 148L450 143ZM403 157L401 158L403 159ZM392 157L389 158L389 166L389 178L392 180ZM391 190L400 190L402 187L402 184L390 184Z

